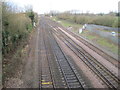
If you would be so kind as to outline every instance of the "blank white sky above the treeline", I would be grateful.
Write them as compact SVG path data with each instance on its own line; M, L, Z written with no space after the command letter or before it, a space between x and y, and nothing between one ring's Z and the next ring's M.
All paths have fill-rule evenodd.
M108 13L118 11L119 0L9 0L18 6L32 5L38 13L46 13L50 10L67 11L80 10L90 13Z

